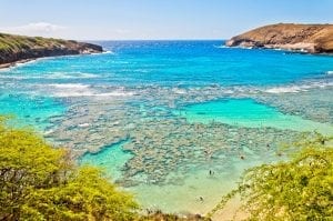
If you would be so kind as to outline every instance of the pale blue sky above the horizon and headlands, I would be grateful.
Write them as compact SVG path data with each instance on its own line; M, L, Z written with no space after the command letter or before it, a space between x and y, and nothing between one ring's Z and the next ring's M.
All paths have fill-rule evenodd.
M0 0L0 32L74 40L229 39L333 23L333 0Z

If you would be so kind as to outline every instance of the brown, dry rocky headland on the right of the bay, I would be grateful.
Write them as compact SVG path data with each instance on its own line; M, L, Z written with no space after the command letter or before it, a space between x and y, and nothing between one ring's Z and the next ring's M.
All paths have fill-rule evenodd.
M333 24L271 24L233 37L225 44L333 53Z

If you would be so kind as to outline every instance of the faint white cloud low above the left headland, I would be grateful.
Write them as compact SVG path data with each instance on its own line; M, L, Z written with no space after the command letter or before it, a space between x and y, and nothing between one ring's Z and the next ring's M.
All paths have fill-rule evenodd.
M50 37L59 34L62 30L65 30L65 27L57 26L48 22L34 22L28 23L19 27L7 27L0 28L1 32L14 33L14 34L24 34L24 36L42 36Z

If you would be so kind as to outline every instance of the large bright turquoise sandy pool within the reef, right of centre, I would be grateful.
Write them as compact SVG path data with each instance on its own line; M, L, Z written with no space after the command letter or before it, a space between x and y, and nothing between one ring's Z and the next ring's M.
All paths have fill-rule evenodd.
M281 130L333 134L330 123L313 122L301 117L283 114L276 109L251 99L220 100L188 106L180 112L190 122L222 122L245 128L271 127Z

